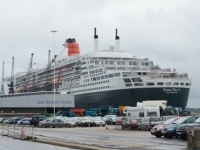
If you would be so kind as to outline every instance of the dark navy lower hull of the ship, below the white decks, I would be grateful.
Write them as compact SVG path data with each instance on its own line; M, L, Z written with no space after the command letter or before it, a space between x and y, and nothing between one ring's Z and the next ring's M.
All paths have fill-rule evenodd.
M97 108L102 105L136 106L145 100L167 100L168 105L186 108L190 88L132 88L75 95L76 108Z

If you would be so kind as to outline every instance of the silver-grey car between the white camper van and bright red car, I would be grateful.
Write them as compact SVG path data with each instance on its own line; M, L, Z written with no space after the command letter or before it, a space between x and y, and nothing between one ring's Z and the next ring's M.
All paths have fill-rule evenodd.
M154 126L161 124L161 118L160 117L147 117L143 118L141 122L138 125L139 130L151 130Z

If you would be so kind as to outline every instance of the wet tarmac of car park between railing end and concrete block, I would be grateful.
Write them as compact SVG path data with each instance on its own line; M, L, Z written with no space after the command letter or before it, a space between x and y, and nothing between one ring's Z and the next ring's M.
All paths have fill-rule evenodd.
M35 142L48 143L75 149L99 150L184 150L187 141L156 138L150 131L122 130L120 126L35 128Z

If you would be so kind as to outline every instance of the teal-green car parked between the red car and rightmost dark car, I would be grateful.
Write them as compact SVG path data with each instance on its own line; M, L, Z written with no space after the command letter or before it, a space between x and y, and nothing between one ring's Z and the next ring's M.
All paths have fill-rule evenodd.
M197 116L185 116L185 117L180 117L178 120L174 121L173 123L165 126L162 131L161 134L165 137L165 138L173 138L174 136L176 138L178 138L176 130L178 128L179 125L181 124L189 124L189 123L193 123L195 120L197 120L199 117Z

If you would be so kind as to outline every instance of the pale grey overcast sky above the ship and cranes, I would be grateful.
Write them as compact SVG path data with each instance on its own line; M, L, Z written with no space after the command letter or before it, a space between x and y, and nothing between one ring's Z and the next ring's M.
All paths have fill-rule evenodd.
M200 107L200 1L198 0L0 0L0 72L26 71L34 53L38 68L47 64L48 50L63 50L75 38L81 54L93 50L97 28L99 48L114 43L121 49L149 58L161 68L176 69L192 78L187 107ZM2 73L0 73L1 76Z

